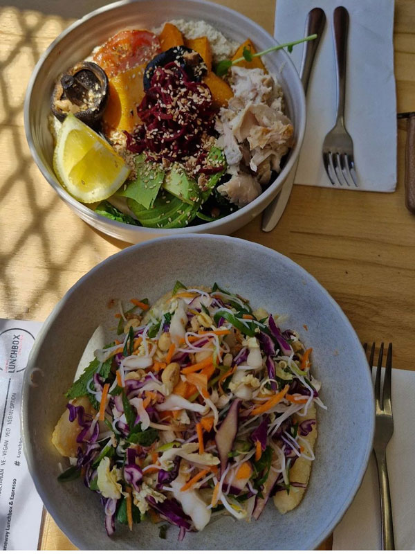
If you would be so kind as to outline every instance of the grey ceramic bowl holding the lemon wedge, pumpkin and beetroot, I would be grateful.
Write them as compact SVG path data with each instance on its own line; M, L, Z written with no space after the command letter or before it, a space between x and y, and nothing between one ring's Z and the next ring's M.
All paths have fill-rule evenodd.
M266 64L271 73L277 75L282 85L288 115L293 120L295 129L295 145L288 154L285 166L277 179L248 206L221 220L203 225L188 226L184 229L147 229L108 220L77 202L62 188L53 172L53 141L48 131L49 98L57 75L67 66L84 59L97 44L102 44L119 30L153 28L169 19L180 18L204 19L238 43L250 37L259 50L265 50L277 44L275 39L259 25L238 12L216 3L202 0L123 0L91 12L64 30L42 55L28 84L24 107L26 137L39 170L57 194L82 220L112 237L127 242L140 242L161 235L191 232L228 234L236 231L249 223L273 201L293 167L302 145L306 122L304 91L290 56L285 51L279 50L267 55Z

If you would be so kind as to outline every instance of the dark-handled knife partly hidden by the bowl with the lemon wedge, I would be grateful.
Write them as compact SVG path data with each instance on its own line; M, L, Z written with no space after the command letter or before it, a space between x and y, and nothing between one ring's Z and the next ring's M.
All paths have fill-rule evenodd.
M326 24L326 15L321 8L314 8L308 12L306 19L306 30L305 35L314 35L317 34L315 40L304 43L303 56L301 62L301 69L299 70L299 78L302 80L304 87L304 92L307 92L308 81L310 80L311 68L313 67L313 62L315 58L315 53L317 52L318 45L320 44L320 39L323 34L324 25ZM291 189L293 188L295 172L297 171L298 158L291 171L288 173L286 180L282 186L281 192L277 197L266 207L264 215L262 216L262 231L272 231L279 222L279 218L284 213L286 208L288 198L291 195Z

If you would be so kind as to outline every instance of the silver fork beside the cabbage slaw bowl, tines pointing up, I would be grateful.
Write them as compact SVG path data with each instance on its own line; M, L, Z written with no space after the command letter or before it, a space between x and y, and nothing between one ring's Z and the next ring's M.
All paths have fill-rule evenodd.
M363 345L365 352L367 343ZM369 354L369 367L374 366L375 343L372 344ZM374 452L378 465L378 478L380 488L380 510L382 513L382 549L395 550L394 522L392 520L391 494L389 492L389 479L387 476L386 447L394 434L394 418L392 417L391 404L391 374L392 374L392 344L387 348L385 364L385 378L383 379L383 391L380 394L380 378L382 373L383 343L380 345L378 365L375 377L375 408L376 428L374 437Z

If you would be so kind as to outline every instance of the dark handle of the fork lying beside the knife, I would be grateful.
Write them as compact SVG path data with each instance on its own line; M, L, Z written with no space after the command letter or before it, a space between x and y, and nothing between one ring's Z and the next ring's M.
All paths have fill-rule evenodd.
M333 12L333 39L335 51L335 75L337 78L337 116L344 125L344 99L346 98L347 35L349 33L349 12L338 6Z

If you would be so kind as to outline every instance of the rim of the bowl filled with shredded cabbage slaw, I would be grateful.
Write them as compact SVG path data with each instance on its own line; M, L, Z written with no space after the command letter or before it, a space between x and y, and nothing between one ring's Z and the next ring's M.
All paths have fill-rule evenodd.
M369 371L369 365L367 363L365 350L363 350L362 344L360 343L360 339L356 334L356 331L354 330L353 325L351 325L349 319L347 318L346 314L344 314L340 305L334 300L334 298L323 287L323 285L321 285L313 275L309 274L308 271L306 271L306 269L304 269L301 265L297 264L297 262L291 260L291 258L288 258L288 256L285 256L284 254L276 250L270 249L268 247L264 247L262 244L258 244L256 242L250 242L249 240L230 237L227 235L216 235L216 234L209 234L209 233L204 233L203 235L199 235L197 233L186 233L185 235L181 235L181 236L157 237L151 240L140 242L139 244L132 244L130 247L127 247L125 249L122 249L112 254L111 256L109 256L109 258L106 258L105 260L102 260L102 262L100 262L98 265L95 265L86 274L84 274L84 276L82 276L79 280L77 280L77 282L74 285L72 285L70 289L68 289L68 291L64 294L61 300L55 305L55 307L53 307L53 310L46 318L46 321L44 322L42 329L39 331L39 334L37 335L35 344L33 345L33 348L30 351L28 364L26 367L27 370L25 371L25 375L24 375L24 383L22 386L22 397L21 397L21 414L20 414L21 415L21 438L23 440L24 454L28 464L28 470L33 479L33 482L35 483L37 492L39 493L39 496L42 498L42 501L44 503L46 510L48 510L50 515L53 517L53 519L55 519L55 522L57 523L59 528L71 540L71 542L73 542L73 544L78 546L78 548L87 548L87 546L83 545L82 543L77 543L77 537L73 535L71 530L68 530L66 528L65 521L62 521L60 517L56 517L54 515L55 510L53 508L53 502L49 501L47 492L44 492L42 488L42 483L39 481L39 479L37 479L37 475L35 474L34 460L33 460L33 456L31 455L32 451L30 447L30 440L28 438L29 437L28 399L30 396L30 388L32 388L31 373L33 368L33 360L37 357L39 351L42 349L42 342L44 340L44 336L46 335L46 332L48 332L50 328L50 325L52 325L55 317L64 308L65 303L68 301L69 298L71 298L71 295L73 294L73 292L75 292L75 289L77 289L77 287L82 285L84 281L91 278L93 274L95 274L98 270L102 269L102 267L104 267L104 265L110 262L110 260L113 261L116 258L120 258L122 256L129 256L129 253L132 251L132 249L140 250L142 248L147 248L149 246L157 247L157 244L159 242L172 241L172 240L205 240L206 242L213 240L217 242L231 242L234 244L235 249L248 246L253 249L268 251L269 255L275 256L275 258L279 258L280 260L283 260L285 263L287 263L289 266L295 269L295 271L297 271L299 276L307 278L307 280L313 286L317 287L317 289L320 289L320 291L326 296L327 300L329 301L329 303L331 304L335 312L338 314L338 316L340 316L342 323L344 323L344 325L349 329L351 336L353 337L353 339L355 339L356 348L358 348L358 350L360 350L360 352L362 353L362 360L365 360L365 364L364 364L366 366L365 369L367 368L365 377L367 379L367 384L369 389L368 402L370 402L372 405L372 409L370 412L371 413L370 420L367 420L367 433L368 433L367 445L365 448L365 452L363 453L362 464L360 466L359 471L356 473L355 479L353 481L353 486L349 490L349 494L347 496L346 501L332 515L331 520L327 521L324 529L320 531L320 534L317 535L317 537L315 537L313 542L303 547L310 550L315 549L317 548L317 546L319 546L322 543L322 541L326 537L328 537L333 532L335 526L340 522L344 513L347 511L347 508L349 508L349 506L351 505L353 498L356 496L356 493L360 488L363 477L365 476L365 472L367 470L367 465L369 463L369 456L371 454L374 432L375 432L375 398L374 398L374 386L372 384L371 373Z

